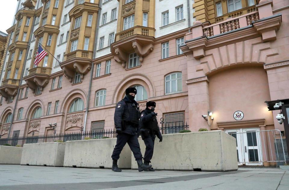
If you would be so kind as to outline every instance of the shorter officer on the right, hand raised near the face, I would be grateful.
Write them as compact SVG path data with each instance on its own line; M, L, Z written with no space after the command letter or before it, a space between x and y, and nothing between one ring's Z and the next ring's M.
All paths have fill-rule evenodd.
M146 146L144 153L144 164L149 165L151 158L154 153L154 140L157 138L160 139L160 142L163 141L163 136L160 133L160 129L157 123L157 113L154 112L156 103L154 101L148 101L146 104L146 109L141 112L141 139L144 140ZM145 171L155 171L153 168L149 168Z

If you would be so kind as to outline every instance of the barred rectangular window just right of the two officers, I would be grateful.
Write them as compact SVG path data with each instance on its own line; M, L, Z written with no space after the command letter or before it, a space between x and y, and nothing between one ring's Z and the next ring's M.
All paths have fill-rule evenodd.
M184 113L164 114L164 127L165 134L179 133L184 129Z

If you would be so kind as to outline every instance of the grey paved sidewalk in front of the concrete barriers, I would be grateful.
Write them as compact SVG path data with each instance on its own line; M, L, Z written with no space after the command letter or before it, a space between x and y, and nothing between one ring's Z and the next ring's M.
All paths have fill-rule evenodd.
M117 173L108 169L0 165L0 189L288 190L289 171L278 168L239 168L232 172L123 170Z

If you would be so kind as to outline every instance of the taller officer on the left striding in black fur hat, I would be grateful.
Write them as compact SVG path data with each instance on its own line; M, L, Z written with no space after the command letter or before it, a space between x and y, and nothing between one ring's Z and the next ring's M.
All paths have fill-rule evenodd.
M138 171L151 168L151 165L144 165L142 162L141 149L138 143L139 136L139 107L134 100L137 91L135 88L126 89L126 97L117 103L114 112L114 125L117 131L117 144L113 149L111 158L112 168L115 172L121 172L117 166L117 160L120 158L120 152L126 143L129 144L135 160L138 163Z

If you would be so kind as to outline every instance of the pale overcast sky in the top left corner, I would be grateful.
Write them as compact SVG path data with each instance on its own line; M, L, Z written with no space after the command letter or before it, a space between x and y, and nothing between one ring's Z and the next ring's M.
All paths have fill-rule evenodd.
M0 0L0 31L7 33L12 26L16 6L17 0Z

